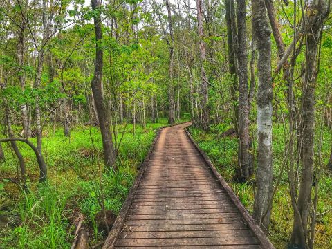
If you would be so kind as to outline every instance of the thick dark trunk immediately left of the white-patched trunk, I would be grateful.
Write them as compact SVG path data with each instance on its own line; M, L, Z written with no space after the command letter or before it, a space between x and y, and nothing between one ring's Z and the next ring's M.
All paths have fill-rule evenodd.
M249 101L246 35L246 2L237 0L237 64L239 75L239 168L237 180L247 181L253 174L253 157L250 153Z

